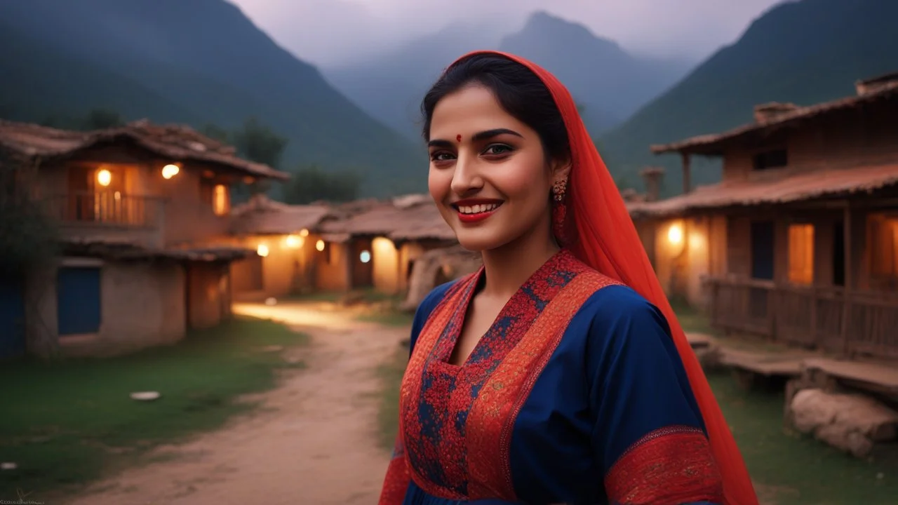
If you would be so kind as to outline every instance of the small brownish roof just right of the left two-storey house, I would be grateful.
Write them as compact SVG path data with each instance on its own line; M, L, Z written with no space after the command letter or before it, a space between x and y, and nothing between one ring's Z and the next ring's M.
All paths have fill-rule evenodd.
M289 235L315 230L330 215L327 205L288 205L256 195L231 210L234 235Z

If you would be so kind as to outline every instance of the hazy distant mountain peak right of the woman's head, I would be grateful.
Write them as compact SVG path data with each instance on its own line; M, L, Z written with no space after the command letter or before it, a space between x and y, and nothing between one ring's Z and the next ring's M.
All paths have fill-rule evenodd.
M585 107L594 134L615 126L685 75L690 64L630 55L584 25L534 13L499 49L530 59L564 83Z

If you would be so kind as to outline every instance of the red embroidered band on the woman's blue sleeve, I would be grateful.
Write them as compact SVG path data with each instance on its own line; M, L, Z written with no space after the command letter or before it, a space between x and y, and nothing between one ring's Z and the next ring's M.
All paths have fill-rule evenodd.
M614 505L723 502L708 438L691 426L670 426L639 439L605 475L605 491Z

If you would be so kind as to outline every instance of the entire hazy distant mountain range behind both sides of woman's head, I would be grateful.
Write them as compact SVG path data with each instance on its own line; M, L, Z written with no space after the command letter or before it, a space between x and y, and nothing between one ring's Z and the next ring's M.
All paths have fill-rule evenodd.
M420 135L418 106L440 72L475 49L499 49L545 66L585 107L593 133L617 125L685 75L688 62L639 58L583 25L533 13L504 35L495 22L454 24L368 64L323 68L327 79L369 114L409 137Z

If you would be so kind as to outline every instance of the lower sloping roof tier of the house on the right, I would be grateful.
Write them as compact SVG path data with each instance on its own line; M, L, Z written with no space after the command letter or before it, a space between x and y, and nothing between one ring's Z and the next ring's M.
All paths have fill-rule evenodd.
M770 205L838 197L898 185L898 164L797 173L774 181L734 181L700 186L653 202L629 202L630 216L665 217L690 210Z

